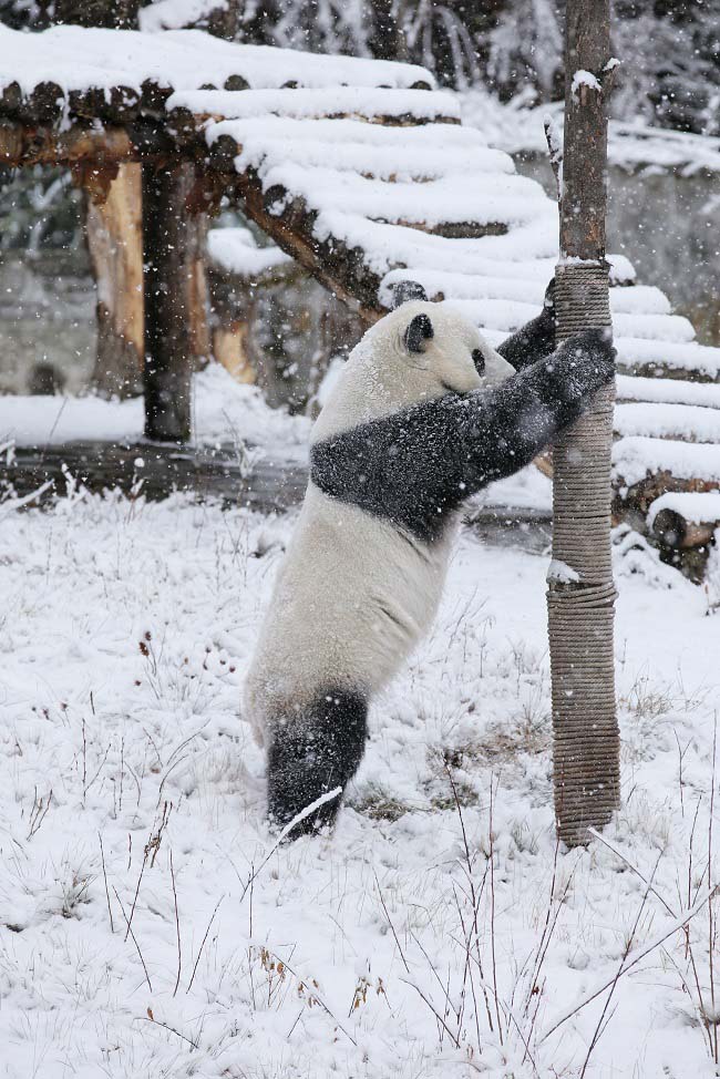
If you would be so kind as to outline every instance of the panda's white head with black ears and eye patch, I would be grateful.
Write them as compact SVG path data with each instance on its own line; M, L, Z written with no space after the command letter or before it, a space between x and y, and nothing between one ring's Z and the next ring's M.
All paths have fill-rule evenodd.
M460 311L429 302L422 286L402 281L393 310L350 353L312 441L445 393L496 386L514 373Z

